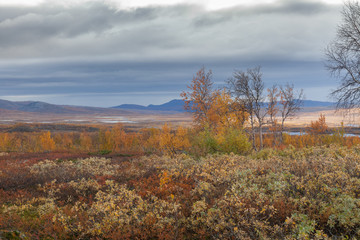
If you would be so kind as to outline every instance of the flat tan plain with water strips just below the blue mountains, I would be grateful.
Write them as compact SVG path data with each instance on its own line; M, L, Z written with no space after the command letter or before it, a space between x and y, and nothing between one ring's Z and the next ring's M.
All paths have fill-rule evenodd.
M341 122L345 125L356 124L359 109L350 114L344 111L335 111L328 108L306 108L297 116L287 121L287 126L292 128L302 128L310 125L311 121L318 120L320 114L326 116L326 122L329 127L339 127ZM1 112L0 112L1 113ZM107 115L107 114L36 114L16 111L7 111L0 114L1 124L13 123L73 123L73 124L114 124L123 123L129 128L160 127L164 123L170 123L176 127L179 125L190 126L192 124L191 114L189 113L171 113L171 112L139 112L127 115Z

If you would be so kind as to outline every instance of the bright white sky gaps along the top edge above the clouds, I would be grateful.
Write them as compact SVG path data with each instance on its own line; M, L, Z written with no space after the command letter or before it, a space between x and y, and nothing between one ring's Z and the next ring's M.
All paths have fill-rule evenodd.
M56 4L65 4L73 5L79 4L82 2L89 2L93 0L0 0L0 6L6 5L25 5L25 6L36 6L39 4L45 3L56 3ZM280 0L281 1L281 0ZM304 0L310 1L310 0ZM312 0L316 1L316 0ZM319 2L324 2L328 4L342 4L343 0L318 0ZM120 8L136 8L136 7L146 7L151 5L174 5L174 4L196 4L203 5L208 10L218 10L223 8L230 8L238 5L257 5L257 4L271 4L279 2L279 0L104 0L104 2L109 2Z

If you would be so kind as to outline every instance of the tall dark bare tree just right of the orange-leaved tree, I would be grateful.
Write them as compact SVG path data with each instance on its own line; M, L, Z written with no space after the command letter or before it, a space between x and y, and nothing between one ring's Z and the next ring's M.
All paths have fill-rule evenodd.
M241 70L235 71L233 77L227 83L232 96L245 107L249 114L254 149L257 149L255 144L255 129L257 126L261 149L263 147L262 127L266 115L261 67L247 69L246 72Z

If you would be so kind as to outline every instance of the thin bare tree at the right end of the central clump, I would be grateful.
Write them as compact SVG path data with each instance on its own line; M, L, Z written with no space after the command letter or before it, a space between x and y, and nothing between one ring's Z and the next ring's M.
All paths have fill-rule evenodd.
M303 105L304 91L294 92L293 84L286 84L285 87L280 87L280 140L282 141L282 133L284 131L285 121L295 116L301 110Z

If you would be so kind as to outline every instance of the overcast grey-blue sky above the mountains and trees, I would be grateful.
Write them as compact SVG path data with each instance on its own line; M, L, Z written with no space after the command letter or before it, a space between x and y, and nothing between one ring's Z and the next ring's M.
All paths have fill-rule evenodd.
M222 87L261 66L329 101L324 49L342 0L0 0L0 99L111 107L179 99L205 67Z

